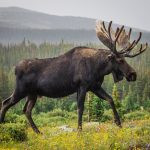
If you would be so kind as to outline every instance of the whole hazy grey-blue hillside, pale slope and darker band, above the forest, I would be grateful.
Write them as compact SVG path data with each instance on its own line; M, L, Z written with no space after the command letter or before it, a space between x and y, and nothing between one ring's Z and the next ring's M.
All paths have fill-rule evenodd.
M18 7L0 7L0 43L17 43L24 38L36 43L62 39L67 42L97 43L95 21L83 17L48 15ZM136 32L139 29L134 29L133 37ZM142 41L149 42L150 32L142 32Z

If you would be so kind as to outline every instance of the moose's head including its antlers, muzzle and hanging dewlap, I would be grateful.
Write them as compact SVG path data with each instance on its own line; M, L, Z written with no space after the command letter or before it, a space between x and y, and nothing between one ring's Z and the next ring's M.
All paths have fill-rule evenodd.
M132 29L126 33L124 26L118 27L114 32L112 29L112 21L109 22L108 28L104 22L98 22L96 25L96 33L99 40L110 49L111 53L108 55L108 60L112 66L112 74L115 82L118 82L125 77L127 81L136 80L135 70L126 62L125 57L133 58L143 53L148 44L142 44L137 53L132 53L132 50L137 46L141 39L142 33L139 33L137 40L130 42L130 35ZM121 50L117 50L121 48Z

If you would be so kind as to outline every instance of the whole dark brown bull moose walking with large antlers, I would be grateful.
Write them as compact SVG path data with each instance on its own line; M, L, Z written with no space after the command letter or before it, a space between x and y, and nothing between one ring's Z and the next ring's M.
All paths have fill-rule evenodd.
M126 32L124 26L117 27L114 31L112 21L107 25L97 22L97 37L108 49L80 46L58 57L20 61L15 67L15 90L10 97L2 101L0 123L4 122L8 109L26 97L23 112L32 129L40 133L31 116L37 98L59 98L77 93L78 129L82 130L85 97L86 93L91 91L100 99L109 102L114 122L121 127L114 101L101 85L104 76L108 74L113 75L114 82L119 82L124 77L127 81L136 81L137 74L126 62L125 57L138 56L147 49L148 44L140 44L139 50L133 52L142 33L139 33L137 40L130 42L131 32L131 28Z

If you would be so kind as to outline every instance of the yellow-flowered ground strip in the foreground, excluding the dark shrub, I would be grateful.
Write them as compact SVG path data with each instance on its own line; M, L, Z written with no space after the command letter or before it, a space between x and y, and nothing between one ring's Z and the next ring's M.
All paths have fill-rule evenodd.
M150 119L125 121L122 128L112 122L84 123L82 132L76 130L77 124L73 122L69 126L41 127L39 135L27 128L27 140L2 142L0 149L150 150Z

